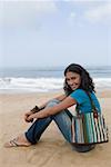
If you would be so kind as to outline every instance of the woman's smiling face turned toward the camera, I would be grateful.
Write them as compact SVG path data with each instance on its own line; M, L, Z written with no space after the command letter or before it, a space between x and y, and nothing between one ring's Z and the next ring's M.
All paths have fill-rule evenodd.
M81 77L79 73L75 73L75 72L67 72L65 73L65 81L72 90L75 90L81 85Z

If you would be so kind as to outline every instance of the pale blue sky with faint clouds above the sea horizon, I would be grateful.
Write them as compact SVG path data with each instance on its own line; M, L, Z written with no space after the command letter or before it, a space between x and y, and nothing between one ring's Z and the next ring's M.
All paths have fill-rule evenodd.
M0 67L111 66L111 0L0 0Z

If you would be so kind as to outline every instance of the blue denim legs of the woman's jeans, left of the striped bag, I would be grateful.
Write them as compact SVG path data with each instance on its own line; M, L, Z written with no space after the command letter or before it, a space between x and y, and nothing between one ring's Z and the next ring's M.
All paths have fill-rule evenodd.
M47 105L47 107L56 106L59 102L60 101L57 99L51 100ZM49 124L52 120L54 120L56 124L58 125L59 129L61 130L62 135L64 136L64 138L69 143L71 143L71 117L72 116L68 110L63 110L57 115L53 115L53 116L50 116L50 117L47 117L43 119L38 119L28 129L28 131L26 132L26 137L31 144L36 144L40 139L41 135L47 129Z

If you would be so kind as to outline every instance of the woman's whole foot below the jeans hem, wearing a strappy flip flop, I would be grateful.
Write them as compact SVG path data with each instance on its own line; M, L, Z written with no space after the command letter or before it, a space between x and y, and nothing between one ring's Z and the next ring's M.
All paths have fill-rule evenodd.
M4 144L4 147L10 148L10 147L28 147L31 146L32 144L28 141L26 138L24 134L18 136L17 138L8 141Z

